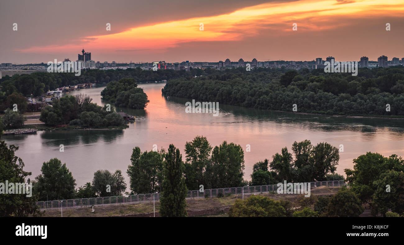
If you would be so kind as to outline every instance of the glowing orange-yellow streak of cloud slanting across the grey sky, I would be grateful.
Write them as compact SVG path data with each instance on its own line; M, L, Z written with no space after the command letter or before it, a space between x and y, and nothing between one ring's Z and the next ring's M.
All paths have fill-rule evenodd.
M292 32L292 23L299 31L322 31L349 26L346 17L402 16L402 0L301 0L288 3L267 3L234 11L230 14L198 17L136 27L125 32L83 38L93 50L164 51L183 42L233 41L251 38L260 32ZM348 19L349 19L348 18ZM200 31L200 23L204 30ZM107 32L107 31L106 31ZM117 48L118 47L118 48ZM80 50L82 45L54 45L19 50L25 53Z

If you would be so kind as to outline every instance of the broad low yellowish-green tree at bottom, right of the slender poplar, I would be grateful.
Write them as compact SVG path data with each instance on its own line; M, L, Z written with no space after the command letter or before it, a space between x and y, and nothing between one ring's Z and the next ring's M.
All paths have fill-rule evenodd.
M229 217L286 217L286 211L280 201L252 195L246 200L237 199L229 208Z

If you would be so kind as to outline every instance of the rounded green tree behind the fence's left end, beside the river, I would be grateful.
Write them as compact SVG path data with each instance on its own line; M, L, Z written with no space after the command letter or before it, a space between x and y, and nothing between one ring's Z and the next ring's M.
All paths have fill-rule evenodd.
M35 177L34 190L39 193L39 200L73 199L75 196L76 180L72 172L57 158L44 162L41 174Z

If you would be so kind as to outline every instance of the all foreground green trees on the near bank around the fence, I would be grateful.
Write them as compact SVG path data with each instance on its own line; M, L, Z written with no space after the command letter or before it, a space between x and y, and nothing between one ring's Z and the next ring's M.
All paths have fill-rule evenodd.
M168 150L149 152L141 152L139 147L135 147L126 172L130 180L130 192L125 192L126 183L120 170L114 173L98 170L92 182L76 189L72 172L59 159L52 158L44 162L41 174L31 181L27 179L31 173L23 171L22 159L15 156L18 147L7 146L4 141L0 143L0 182L27 181L32 182L34 188L31 198L25 195L0 195L0 201L6 203L0 207L0 216L39 215L38 208L34 207L36 201L153 192L161 192L160 215L186 216L187 191L198 190L200 184L209 189L246 184L266 185L271 180L276 184L283 180L309 182L343 178L335 174L339 160L336 147L328 143L312 146L308 140L304 140L292 144L294 157L285 147L281 154L272 156L271 162L265 159L256 163L251 182L246 182L243 180L244 152L240 145L224 141L212 148L206 137L196 136L185 144L185 162L173 144L170 144ZM381 212L383 215L395 215L388 213L388 209L398 214L404 212L404 160L401 157L391 155L387 158L368 152L353 159L353 163L353 170L345 169L351 188L342 188L331 197L302 198L298 209L292 209L284 200L250 197L251 201L236 201L229 215L353 217L363 212L364 204L369 204L374 214Z

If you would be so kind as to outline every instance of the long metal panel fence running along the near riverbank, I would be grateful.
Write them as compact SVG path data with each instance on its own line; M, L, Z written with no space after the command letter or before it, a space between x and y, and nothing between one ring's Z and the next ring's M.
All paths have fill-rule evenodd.
M319 182L305 182L305 184L310 183L310 187L314 186L345 186L344 180L334 180L334 181L319 181ZM283 184L280 186L283 188ZM217 196L227 196L227 195L252 195L260 193L273 193L276 192L278 186L267 185L267 186L244 186L244 187L231 187L231 188L218 188L218 189L207 189L207 190L189 190L186 199L198 199L198 198L214 198ZM137 194L130 196L105 196L105 197L93 197L93 198L82 198L82 199L67 199L67 200L56 200L56 201L40 201L36 202L36 205L40 207L41 210L57 210L57 209L68 209L68 208L80 208L80 207L99 207L99 206L111 206L120 204L139 204L139 203L150 203L160 201L160 193L151 194Z

